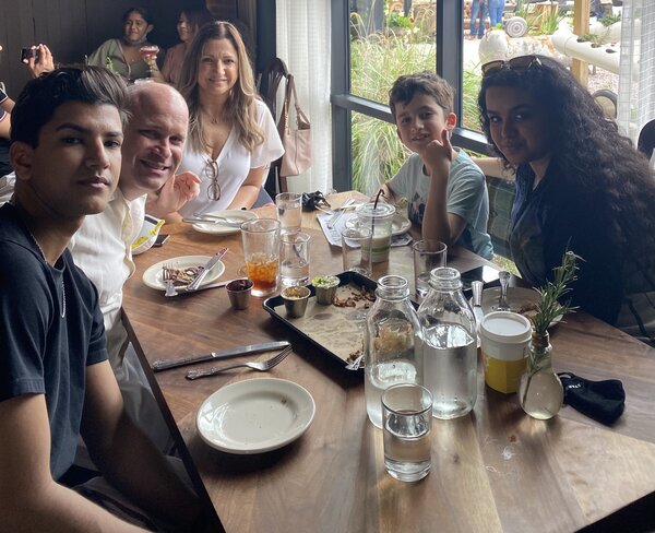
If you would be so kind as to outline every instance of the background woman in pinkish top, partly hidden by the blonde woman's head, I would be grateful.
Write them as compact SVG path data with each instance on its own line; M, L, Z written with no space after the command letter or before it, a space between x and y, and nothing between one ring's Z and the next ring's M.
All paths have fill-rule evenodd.
M187 51L193 42L193 37L195 37L195 34L202 26L212 20L212 13L210 13L205 8L186 8L180 12L177 31L181 43L175 45L172 48L169 48L166 51L164 67L162 67L162 70L157 69L157 62L155 61L155 58L152 58L151 67L153 69L153 78L155 80L169 83L174 87L179 86L182 62L184 61Z

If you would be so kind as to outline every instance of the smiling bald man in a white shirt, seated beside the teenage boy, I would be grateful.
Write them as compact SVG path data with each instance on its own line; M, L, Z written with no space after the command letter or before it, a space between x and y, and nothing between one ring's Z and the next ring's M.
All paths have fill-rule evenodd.
M104 212L87 216L69 246L75 263L98 289L109 362L128 413L163 451L170 436L121 320L122 286L134 272L131 245L148 214L177 211L199 192L191 173L176 176L181 162L189 110L184 98L162 83L129 88L131 114L121 147L118 189Z

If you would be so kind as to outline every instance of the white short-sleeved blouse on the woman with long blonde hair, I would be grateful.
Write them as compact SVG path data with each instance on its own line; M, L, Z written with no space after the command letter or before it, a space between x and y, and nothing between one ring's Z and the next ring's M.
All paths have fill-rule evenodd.
M193 213L207 213L221 211L228 208L237 196L237 191L246 181L250 169L269 166L284 154L282 141L277 134L275 122L271 111L261 100L257 102L258 125L263 130L264 142L249 152L239 143L236 129L233 127L223 150L215 162L218 168L218 183L221 185L221 198L212 200L207 196L207 189L212 183L211 155L206 152L193 152L189 144L184 150L182 163L178 173L192 171L200 177L200 194L180 209L182 216L191 216ZM264 174L261 186L264 185Z

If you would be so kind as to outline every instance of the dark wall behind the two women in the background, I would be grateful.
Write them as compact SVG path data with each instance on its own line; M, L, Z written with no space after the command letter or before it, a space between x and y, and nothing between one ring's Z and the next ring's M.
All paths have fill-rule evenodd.
M20 62L21 48L44 43L59 63L82 62L98 45L122 34L121 17L133 5L148 10L155 28L150 39L166 48L178 43L176 24L180 9L205 0L0 0L0 81L17 97L28 80ZM271 0L263 0L271 1ZM211 4L211 5L210 5ZM257 1L206 0L223 19L239 19L255 59Z

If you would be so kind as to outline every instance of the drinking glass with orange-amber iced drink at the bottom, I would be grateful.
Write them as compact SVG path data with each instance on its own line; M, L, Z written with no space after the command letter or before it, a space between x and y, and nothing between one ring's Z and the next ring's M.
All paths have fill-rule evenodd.
M277 291L279 279L279 221L257 218L241 224L243 256L253 296Z

